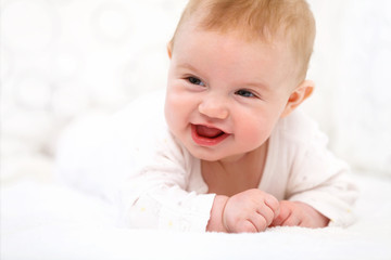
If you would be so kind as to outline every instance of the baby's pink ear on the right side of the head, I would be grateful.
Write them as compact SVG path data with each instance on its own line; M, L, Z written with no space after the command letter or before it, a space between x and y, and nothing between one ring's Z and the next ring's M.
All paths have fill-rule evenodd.
M315 83L311 80L304 80L290 94L286 108L283 109L281 117L286 117L291 114L303 101L305 101L314 91Z

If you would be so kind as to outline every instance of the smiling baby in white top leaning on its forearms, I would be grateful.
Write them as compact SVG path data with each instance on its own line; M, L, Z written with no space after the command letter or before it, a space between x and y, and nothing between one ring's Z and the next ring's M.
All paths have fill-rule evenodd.
M295 110L314 89L314 37L304 0L190 0L167 48L166 134L124 185L128 225L240 233L352 222L348 167Z

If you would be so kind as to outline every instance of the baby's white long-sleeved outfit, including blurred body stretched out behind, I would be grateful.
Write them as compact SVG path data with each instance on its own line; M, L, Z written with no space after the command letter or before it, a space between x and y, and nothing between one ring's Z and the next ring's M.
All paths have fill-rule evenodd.
M163 100L160 92L140 98L102 120L104 128L93 126L98 134L63 140L59 177L119 202L125 226L205 231L214 195L206 194L200 160L169 133ZM348 225L356 191L345 180L346 165L326 145L327 138L301 112L281 119L258 187L279 200L313 206L333 225Z

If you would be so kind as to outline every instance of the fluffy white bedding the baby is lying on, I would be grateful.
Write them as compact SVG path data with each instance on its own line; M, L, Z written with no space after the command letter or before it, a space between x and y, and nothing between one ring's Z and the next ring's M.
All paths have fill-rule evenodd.
M391 180L355 174L348 229L275 227L260 234L172 233L116 226L116 209L53 183L1 188L1 259L391 259Z

